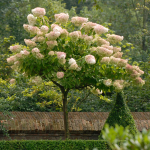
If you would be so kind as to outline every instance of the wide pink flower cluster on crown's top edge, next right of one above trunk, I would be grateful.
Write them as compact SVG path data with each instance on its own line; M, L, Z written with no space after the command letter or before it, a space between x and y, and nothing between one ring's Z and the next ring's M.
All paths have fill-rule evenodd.
M83 18L83 17L72 17L71 18L71 22L75 26L81 26L82 23L86 23L87 21L88 21L88 18Z

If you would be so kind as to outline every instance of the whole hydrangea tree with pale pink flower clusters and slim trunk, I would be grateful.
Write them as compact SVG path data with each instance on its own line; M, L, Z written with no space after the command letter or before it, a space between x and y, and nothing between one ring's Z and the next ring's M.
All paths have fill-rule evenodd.
M32 9L24 29L32 39L24 39L26 46L13 45L13 55L7 62L18 72L31 78L33 83L50 80L62 92L65 138L69 138L67 94L72 89L90 88L94 94L125 86L143 85L138 66L122 59L123 36L107 34L108 28L88 18L55 14L53 24L48 23L44 8ZM109 33L109 32L108 32ZM11 82L14 82L13 80Z

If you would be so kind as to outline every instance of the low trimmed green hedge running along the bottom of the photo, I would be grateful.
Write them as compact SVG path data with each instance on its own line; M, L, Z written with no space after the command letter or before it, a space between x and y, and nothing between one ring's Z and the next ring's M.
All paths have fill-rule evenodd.
M106 141L100 140L12 140L0 141L0 150L111 150Z

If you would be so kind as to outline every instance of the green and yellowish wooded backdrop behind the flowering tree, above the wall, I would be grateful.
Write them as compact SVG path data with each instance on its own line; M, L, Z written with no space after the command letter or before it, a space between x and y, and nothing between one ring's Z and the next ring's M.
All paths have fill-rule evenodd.
M83 16L90 21L110 28L124 36L123 57L129 63L140 66L146 84L143 87L128 87L124 98L131 111L150 111L150 1L147 0L7 0L0 2L0 109L8 111L62 111L61 94L52 83L30 85L28 79L13 72L6 62L12 43L24 44L30 35L23 29L26 16L35 7L46 9L49 22L54 14L65 12L72 16ZM99 7L98 7L99 6ZM96 9L97 8L97 9ZM10 85L11 78L17 78ZM68 97L68 111L110 111L116 94L105 93L95 96L88 90L72 90Z

